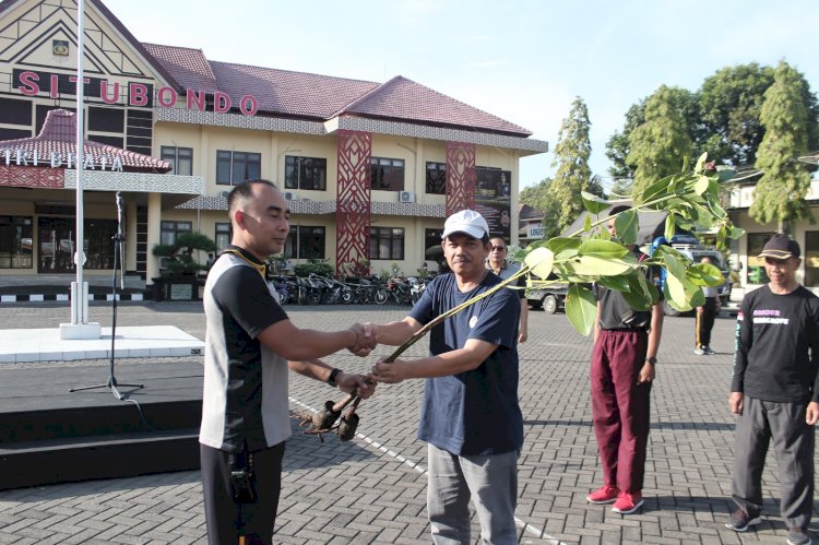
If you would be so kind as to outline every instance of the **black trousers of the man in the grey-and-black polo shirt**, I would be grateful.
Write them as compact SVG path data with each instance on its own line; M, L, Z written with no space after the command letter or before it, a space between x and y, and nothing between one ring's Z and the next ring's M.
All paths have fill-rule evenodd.
M238 503L230 491L229 454L199 446L202 464L207 543L236 545L246 536L247 545L272 544L276 523L278 495L282 490L282 459L284 441L269 449L253 452L253 473L259 496L254 503Z

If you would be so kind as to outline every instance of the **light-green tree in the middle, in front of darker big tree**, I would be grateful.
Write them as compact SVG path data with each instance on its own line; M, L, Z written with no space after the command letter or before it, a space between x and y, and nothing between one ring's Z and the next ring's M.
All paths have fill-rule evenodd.
M631 131L626 158L634 169L632 194L642 194L657 179L679 173L680 157L691 156L693 143L679 108L679 99L686 93L679 87L661 85L645 102L645 122Z

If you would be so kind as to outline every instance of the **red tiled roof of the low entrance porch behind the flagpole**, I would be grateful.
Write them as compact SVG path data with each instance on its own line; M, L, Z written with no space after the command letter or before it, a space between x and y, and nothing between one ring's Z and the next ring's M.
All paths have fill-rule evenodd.
M12 163L15 161L17 151L25 154L29 164L35 153L38 161L43 163L50 161L51 153L59 153L66 161L69 154L76 155L76 118L72 111L51 110L46 116L39 134L34 138L0 142L0 156L4 156L7 150L11 154ZM170 163L165 161L90 140L83 142L83 154L86 157L93 157L97 167L102 167L103 157L106 157L107 168L110 168L115 157L119 157L122 162L122 169L126 171L167 173L171 169Z

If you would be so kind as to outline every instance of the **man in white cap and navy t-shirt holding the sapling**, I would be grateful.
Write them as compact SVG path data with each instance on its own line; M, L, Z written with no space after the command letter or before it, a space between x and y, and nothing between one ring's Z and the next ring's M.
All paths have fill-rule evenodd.
M371 324L378 343L400 345L425 323L501 282L484 266L489 227L480 214L452 214L441 238L452 273L430 282L404 320ZM499 289L434 328L429 356L372 367L379 382L427 379L418 438L428 443L427 511L434 543L472 542L471 497L483 543L518 543L514 509L523 446L519 318L519 295Z

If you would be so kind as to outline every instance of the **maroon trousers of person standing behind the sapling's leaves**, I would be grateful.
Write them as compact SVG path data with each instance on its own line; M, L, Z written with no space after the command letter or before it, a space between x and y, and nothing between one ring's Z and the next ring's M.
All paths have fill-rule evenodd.
M642 490L651 383L637 384L649 334L601 331L592 351L592 417L605 484Z

